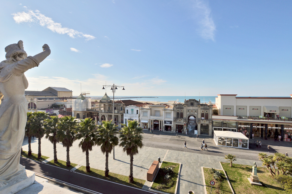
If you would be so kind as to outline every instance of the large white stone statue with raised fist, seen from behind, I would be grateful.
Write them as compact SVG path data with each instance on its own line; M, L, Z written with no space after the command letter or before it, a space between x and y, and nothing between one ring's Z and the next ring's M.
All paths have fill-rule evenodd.
M51 50L43 45L43 52L28 56L23 42L5 47L6 60L0 63L0 188L7 185L12 177L25 173L19 164L24 130L27 122L27 100L24 90L28 81L24 72L37 67Z

